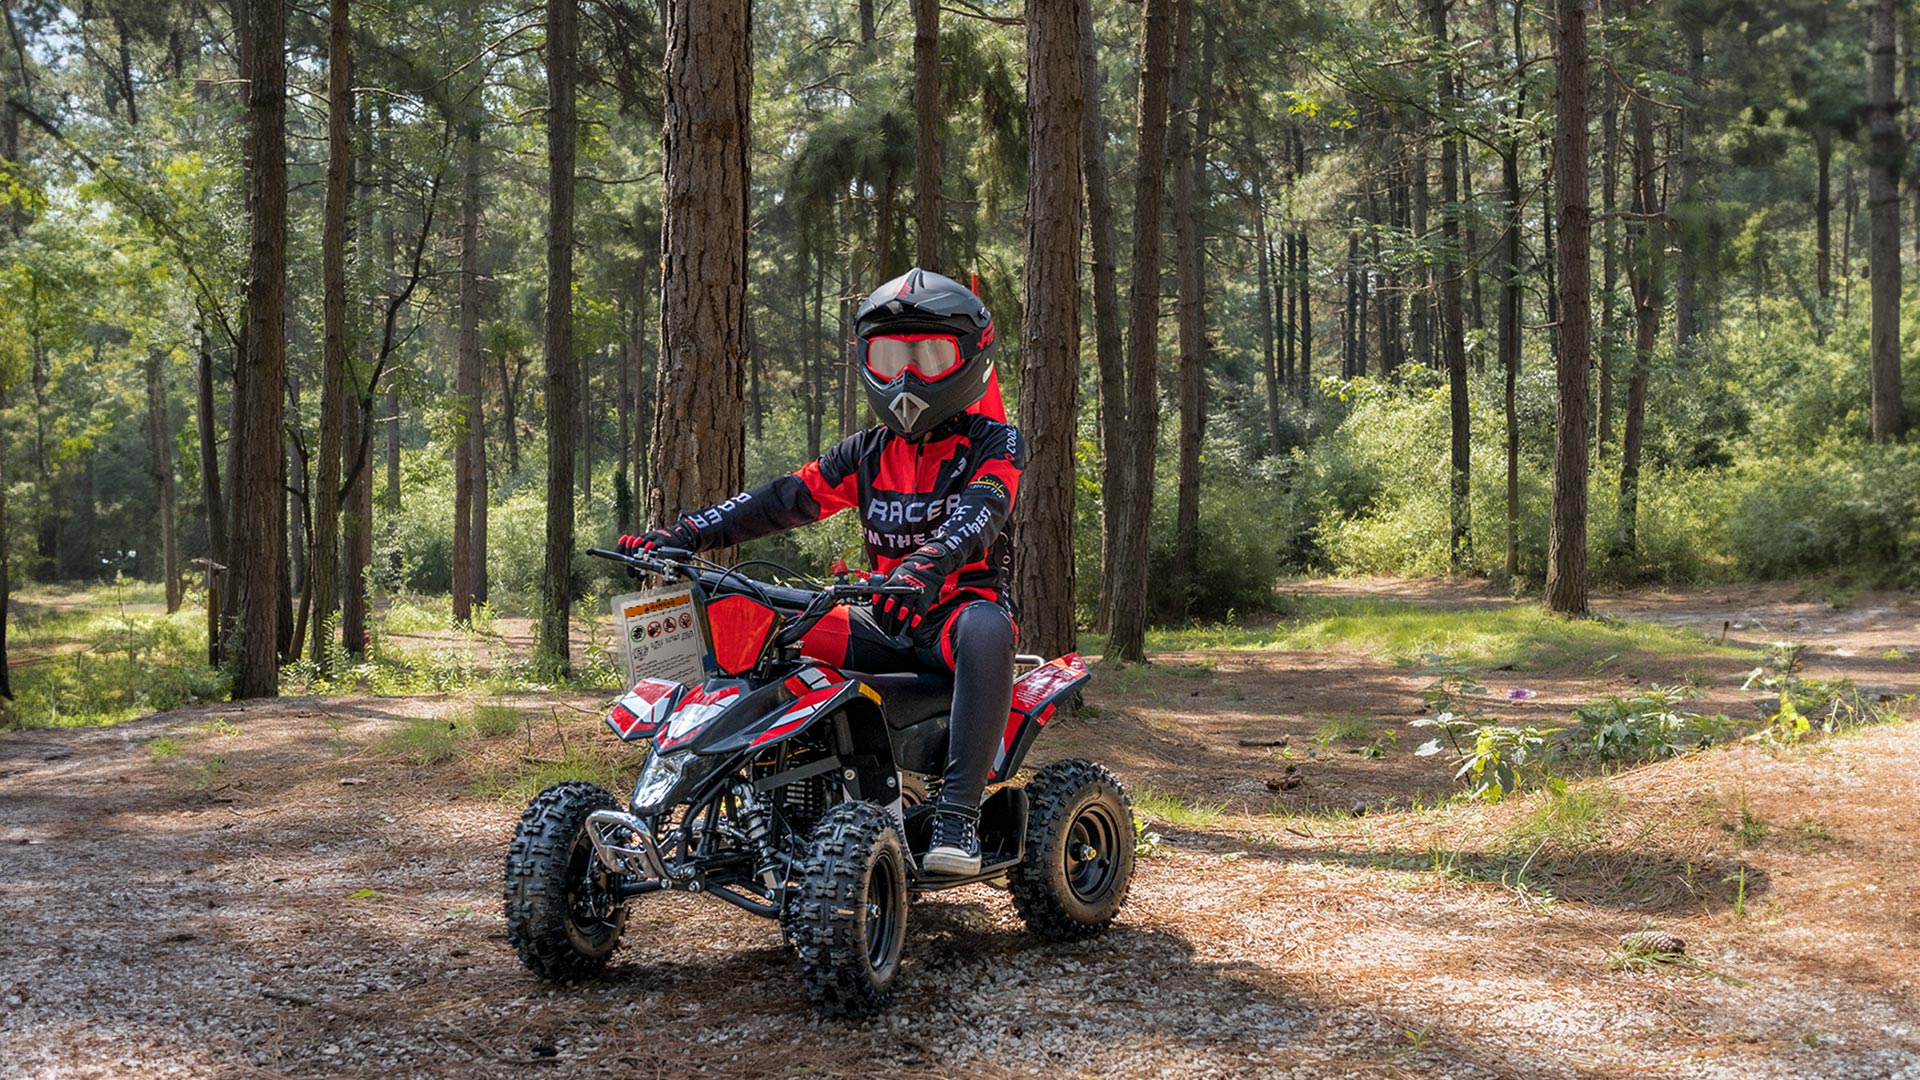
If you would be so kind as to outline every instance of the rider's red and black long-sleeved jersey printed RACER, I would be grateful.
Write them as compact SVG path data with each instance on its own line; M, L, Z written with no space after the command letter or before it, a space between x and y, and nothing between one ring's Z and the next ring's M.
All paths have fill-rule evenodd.
M931 546L933 567L947 575L943 605L962 594L1006 603L1002 532L1025 465L1020 429L977 413L947 421L922 442L872 427L797 473L682 519L699 528L701 548L730 548L858 509L874 569L891 571Z

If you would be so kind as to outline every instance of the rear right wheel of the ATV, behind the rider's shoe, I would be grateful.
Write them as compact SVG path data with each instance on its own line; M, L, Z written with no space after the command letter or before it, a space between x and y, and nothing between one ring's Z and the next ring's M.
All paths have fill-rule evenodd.
M1133 884L1133 799L1092 761L1054 761L1027 784L1027 857L1008 872L1014 909L1050 942L1094 938Z

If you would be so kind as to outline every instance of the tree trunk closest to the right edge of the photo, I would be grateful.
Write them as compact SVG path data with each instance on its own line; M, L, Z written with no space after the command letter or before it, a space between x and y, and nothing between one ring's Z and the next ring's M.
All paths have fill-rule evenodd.
M1872 221L1868 400L1874 442L1907 432L1901 402L1901 163L1905 146L1893 123L1895 0L1874 0L1866 42L1866 211Z

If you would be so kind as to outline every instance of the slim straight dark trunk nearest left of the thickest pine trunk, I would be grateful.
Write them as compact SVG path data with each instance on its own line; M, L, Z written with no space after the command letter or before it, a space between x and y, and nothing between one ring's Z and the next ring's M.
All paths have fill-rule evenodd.
M572 673L574 567L574 0L547 0L547 552L540 663Z

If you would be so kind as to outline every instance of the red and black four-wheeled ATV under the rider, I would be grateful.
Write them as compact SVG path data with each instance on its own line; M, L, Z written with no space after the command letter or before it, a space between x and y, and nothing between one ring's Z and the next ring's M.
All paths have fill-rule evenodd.
M858 673L803 657L801 636L835 603L887 586L791 588L687 552L620 555L684 578L707 634L699 686L641 680L607 715L651 748L620 803L588 782L541 792L507 849L507 936L547 978L601 969L636 897L707 894L778 919L812 1005L881 1011L900 970L916 894L991 884L1027 926L1073 942L1106 930L1133 880L1133 805L1091 761L1056 761L1008 784L1033 738L1085 680L1077 655L1020 657L1006 736L981 807L981 871L920 871L927 798L947 771L952 676ZM841 567L835 567L841 569ZM895 586L900 588L900 586Z

